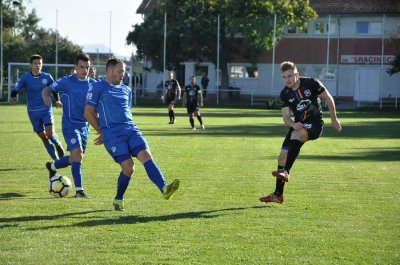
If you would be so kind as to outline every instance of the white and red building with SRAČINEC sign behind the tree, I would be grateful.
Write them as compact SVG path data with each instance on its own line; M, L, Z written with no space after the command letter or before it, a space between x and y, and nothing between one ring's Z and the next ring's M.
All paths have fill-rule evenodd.
M137 12L149 13L157 2L144 0ZM400 74L389 77L386 73L400 50L400 2L311 0L310 5L319 17L303 31L286 27L275 47L274 63L270 50L261 55L256 67L241 56L227 65L229 81L241 89L241 96L278 95L283 87L279 64L291 60L302 75L323 81L336 98L368 102L400 98ZM216 92L214 64L185 62L180 71L185 81L193 74L208 73L208 93ZM156 84L160 74L147 78L148 83Z

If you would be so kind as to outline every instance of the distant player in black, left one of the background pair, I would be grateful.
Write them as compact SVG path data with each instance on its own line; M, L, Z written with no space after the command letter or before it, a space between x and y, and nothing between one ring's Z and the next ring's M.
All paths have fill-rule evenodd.
M165 81L164 90L161 96L162 100L166 100L165 102L168 105L168 116L169 116L169 124L175 124L175 113L174 113L174 105L177 99L181 98L181 87L176 79L174 79L174 73L168 72L168 80Z

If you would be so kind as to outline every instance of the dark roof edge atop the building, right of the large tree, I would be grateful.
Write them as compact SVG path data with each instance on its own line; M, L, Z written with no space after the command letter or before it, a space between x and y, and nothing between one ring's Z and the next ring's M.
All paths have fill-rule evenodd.
M399 0L310 0L318 14L400 14Z

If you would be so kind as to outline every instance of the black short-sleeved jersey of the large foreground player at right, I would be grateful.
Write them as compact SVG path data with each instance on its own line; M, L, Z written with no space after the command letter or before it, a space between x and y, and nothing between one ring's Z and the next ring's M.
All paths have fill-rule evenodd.
M322 120L322 107L319 95L326 90L325 86L315 78L300 77L300 85L296 90L285 86L281 91L282 108L289 107L295 122L311 123Z

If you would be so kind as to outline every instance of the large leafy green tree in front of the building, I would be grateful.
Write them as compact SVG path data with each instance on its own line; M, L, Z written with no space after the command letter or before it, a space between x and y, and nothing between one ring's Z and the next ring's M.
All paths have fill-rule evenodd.
M167 13L167 68L186 61L211 61L217 57L217 17L220 15L220 65L222 87L228 87L228 69L233 56L245 56L256 64L261 52L274 44L285 25L303 28L316 17L308 0L168 0L158 5L142 24L133 26L127 43L137 47L138 59L149 56L152 68L162 70L164 12ZM244 49L244 50L243 50Z

